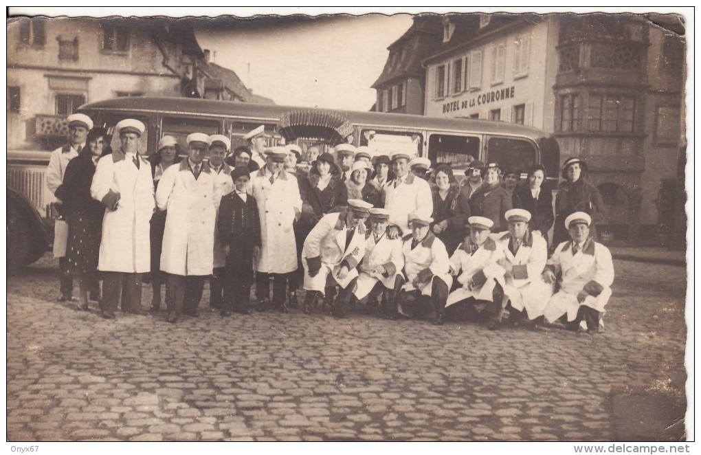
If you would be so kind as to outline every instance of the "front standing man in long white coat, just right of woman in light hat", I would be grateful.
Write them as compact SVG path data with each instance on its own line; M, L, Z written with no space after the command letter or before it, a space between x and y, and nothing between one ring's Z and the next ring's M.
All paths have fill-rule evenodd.
M210 137L204 133L188 135L188 158L166 169L156 190L158 210L168 210L161 251L161 270L168 273L167 322L176 322L179 311L199 316L205 278L212 274L220 198L215 173L203 161L209 146Z

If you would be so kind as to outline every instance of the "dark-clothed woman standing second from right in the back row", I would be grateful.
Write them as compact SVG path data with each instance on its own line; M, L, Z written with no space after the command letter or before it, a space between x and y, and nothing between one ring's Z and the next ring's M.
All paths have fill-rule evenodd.
M555 218L552 214L552 192L546 182L547 172L540 164L532 165L528 170L526 182L520 184L514 190L514 208L522 208L531 212L531 222L529 229L545 238L545 242L550 245L547 238L547 231L550 231Z

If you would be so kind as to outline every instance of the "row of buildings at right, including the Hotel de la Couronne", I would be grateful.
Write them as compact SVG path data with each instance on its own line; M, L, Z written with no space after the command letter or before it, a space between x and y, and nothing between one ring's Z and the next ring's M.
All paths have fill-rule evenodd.
M674 18L445 15L442 43L423 60L424 114L552 133L560 163L587 161L604 228L655 236L683 214L685 46Z

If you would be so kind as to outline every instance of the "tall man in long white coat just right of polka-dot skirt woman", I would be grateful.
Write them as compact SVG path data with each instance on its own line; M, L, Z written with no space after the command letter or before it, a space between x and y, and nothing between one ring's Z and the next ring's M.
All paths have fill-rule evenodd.
M151 164L139 154L144 124L127 118L115 126L121 148L97 162L90 196L107 210L97 270L102 271L102 317L114 319L119 295L122 311L141 308L142 274L151 270L150 221L154 214Z

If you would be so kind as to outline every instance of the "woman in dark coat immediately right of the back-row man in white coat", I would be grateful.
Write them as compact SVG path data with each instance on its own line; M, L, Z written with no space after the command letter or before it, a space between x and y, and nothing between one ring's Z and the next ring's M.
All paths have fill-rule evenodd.
M463 196L449 165L435 168L433 193L433 226L431 230L444 243L448 254L465 238L465 222L470 217L470 201Z

